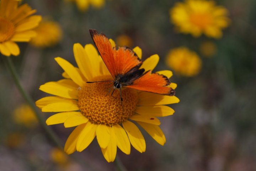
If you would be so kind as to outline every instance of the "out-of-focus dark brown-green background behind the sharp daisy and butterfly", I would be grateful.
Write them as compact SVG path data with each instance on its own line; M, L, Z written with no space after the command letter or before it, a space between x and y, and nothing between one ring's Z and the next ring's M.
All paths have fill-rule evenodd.
M175 114L160 118L165 145L159 145L144 131L145 153L133 148L130 155L117 151L127 170L255 171L255 0L215 1L216 6L228 11L229 18L227 27L220 29L223 35L218 38L206 34L195 37L178 30L170 11L177 2L184 1L90 0L86 6L78 6L78 1L22 1L36 9L44 17L43 21L54 22L50 26L53 33L46 34L46 37L54 35L52 43L46 43L48 47L44 40L19 43L20 56L11 57L23 87L35 101L44 96L38 89L40 85L62 79L63 71L54 57L63 57L76 65L73 44L92 44L89 29L94 28L119 46L139 46L143 60L158 54L160 61L154 71L173 71L170 81L178 84L176 96L180 103L170 105ZM42 28L41 32L47 26ZM182 64L179 63L182 57L175 58L179 52L172 54L180 47ZM191 61L194 63L190 64ZM194 69L190 71L186 67ZM1 58L0 92L0 170L110 171L115 168L103 158L95 139L86 150L72 154L76 159L54 148L33 112L27 109ZM45 119L52 114L43 113ZM50 127L63 144L74 129L64 128L62 124Z

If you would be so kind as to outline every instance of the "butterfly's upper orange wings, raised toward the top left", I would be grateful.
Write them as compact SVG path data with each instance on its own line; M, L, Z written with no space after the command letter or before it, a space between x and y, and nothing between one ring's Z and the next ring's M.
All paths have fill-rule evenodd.
M135 66L142 65L142 61L132 49L120 47L116 50L116 48L112 48L111 43L104 34L98 34L95 29L90 29L89 31L102 60L113 78L116 78L117 75L124 75Z

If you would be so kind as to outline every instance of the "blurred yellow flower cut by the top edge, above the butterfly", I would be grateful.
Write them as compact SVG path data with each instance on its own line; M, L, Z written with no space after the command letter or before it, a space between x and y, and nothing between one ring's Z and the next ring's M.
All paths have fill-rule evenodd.
M72 1L76 3L76 6L81 12L85 12L89 5L92 5L93 7L100 9L105 5L105 0L67 0Z

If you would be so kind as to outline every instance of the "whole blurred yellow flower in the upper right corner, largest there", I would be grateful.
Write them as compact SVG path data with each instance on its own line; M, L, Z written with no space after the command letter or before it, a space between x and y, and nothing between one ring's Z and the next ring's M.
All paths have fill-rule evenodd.
M221 38L222 29L228 27L228 10L216 6L214 1L186 0L177 2L170 10L171 22L178 32L199 37L205 34L212 38Z

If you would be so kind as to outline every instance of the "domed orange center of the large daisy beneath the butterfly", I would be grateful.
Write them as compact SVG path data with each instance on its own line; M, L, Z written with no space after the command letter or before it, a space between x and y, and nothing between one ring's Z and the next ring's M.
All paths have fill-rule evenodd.
M111 77L100 76L94 80L103 81L111 79ZM114 90L113 97L111 96L112 87L113 82L100 82L86 83L80 89L78 95L80 112L89 118L92 123L112 126L126 121L134 114L138 103L137 91L123 88L123 102L121 103L119 89ZM107 94L109 91L110 93Z

